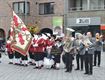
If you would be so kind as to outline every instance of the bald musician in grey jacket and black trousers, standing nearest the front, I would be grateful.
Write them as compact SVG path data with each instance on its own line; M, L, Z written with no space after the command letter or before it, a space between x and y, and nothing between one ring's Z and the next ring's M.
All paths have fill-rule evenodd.
M93 54L94 54L94 39L92 38L91 32L87 32L84 40L85 45L85 73L93 74Z

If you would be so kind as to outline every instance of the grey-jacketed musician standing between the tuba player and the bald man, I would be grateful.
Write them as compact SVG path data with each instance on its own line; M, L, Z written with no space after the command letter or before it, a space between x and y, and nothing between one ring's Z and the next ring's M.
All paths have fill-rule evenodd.
M76 40L74 40L74 47L75 47L75 53L76 53L76 62L77 62L77 68L75 70L83 70L83 62L84 62L84 45L82 43L83 41L83 35L77 34Z

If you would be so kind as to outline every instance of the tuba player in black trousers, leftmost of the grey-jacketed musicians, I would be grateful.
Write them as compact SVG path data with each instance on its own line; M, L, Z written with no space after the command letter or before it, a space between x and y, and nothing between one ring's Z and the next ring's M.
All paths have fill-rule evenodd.
M72 71L72 62L73 62L73 54L74 54L74 48L73 48L73 41L71 40L70 36L66 36L66 40L64 43L64 52L65 52L65 64L66 64L66 71L65 72L71 72Z

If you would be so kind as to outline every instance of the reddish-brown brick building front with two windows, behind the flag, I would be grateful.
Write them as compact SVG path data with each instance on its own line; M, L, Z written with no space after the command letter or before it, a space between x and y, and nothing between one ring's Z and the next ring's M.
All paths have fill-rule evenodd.
M6 36L13 10L26 25L37 24L40 29L53 29L53 17L64 16L64 0L0 0L0 29Z

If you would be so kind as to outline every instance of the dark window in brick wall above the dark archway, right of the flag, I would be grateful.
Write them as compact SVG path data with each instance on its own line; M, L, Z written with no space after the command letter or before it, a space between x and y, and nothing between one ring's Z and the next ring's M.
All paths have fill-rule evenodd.
M40 3L39 14L53 14L54 13L54 2L51 3Z

